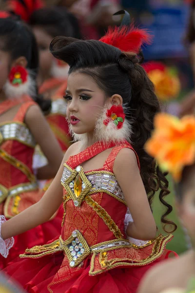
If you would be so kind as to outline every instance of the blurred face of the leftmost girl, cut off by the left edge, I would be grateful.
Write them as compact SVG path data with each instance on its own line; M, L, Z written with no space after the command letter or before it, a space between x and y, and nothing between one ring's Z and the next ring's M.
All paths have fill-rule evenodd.
M7 52L0 50L0 91L9 75L10 55Z

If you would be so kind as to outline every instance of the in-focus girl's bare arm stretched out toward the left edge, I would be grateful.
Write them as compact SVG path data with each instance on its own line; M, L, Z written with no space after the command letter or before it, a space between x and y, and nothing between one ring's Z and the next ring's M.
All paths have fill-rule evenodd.
M63 164L72 154L74 147L75 146L72 145L66 151L56 177L39 202L2 224L1 236L3 239L10 238L37 227L48 221L57 209L59 209L63 197L63 189L60 183Z

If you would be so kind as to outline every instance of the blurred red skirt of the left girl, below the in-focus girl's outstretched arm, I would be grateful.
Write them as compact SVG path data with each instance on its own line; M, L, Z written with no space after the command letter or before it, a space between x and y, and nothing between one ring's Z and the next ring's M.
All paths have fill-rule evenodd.
M59 208L56 217L38 227L26 231L14 237L14 246L10 249L7 258L0 255L0 269L7 267L19 254L24 253L26 248L32 248L36 245L43 245L49 240L59 236L61 233L61 221L63 217L63 207Z

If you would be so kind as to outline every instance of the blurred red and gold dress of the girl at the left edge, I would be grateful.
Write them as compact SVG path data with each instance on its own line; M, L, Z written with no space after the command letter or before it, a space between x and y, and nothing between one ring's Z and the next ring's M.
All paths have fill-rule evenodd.
M37 203L43 195L32 170L36 142L24 123L27 110L36 103L24 96L21 99L0 103L0 115L19 105L12 121L0 123L0 214L7 219ZM61 218L27 231L15 238L7 258L0 256L0 268L34 245L41 245L55 237L61 230ZM51 236L52 235L52 236Z

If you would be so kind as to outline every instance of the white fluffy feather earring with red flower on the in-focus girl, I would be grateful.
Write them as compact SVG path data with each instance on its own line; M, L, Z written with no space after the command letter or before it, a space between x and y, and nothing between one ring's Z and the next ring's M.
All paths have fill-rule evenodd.
M103 109L95 129L98 141L103 141L106 144L110 142L120 144L124 140L131 141L132 127L125 119L123 109L124 107L121 105L111 105L110 109Z

